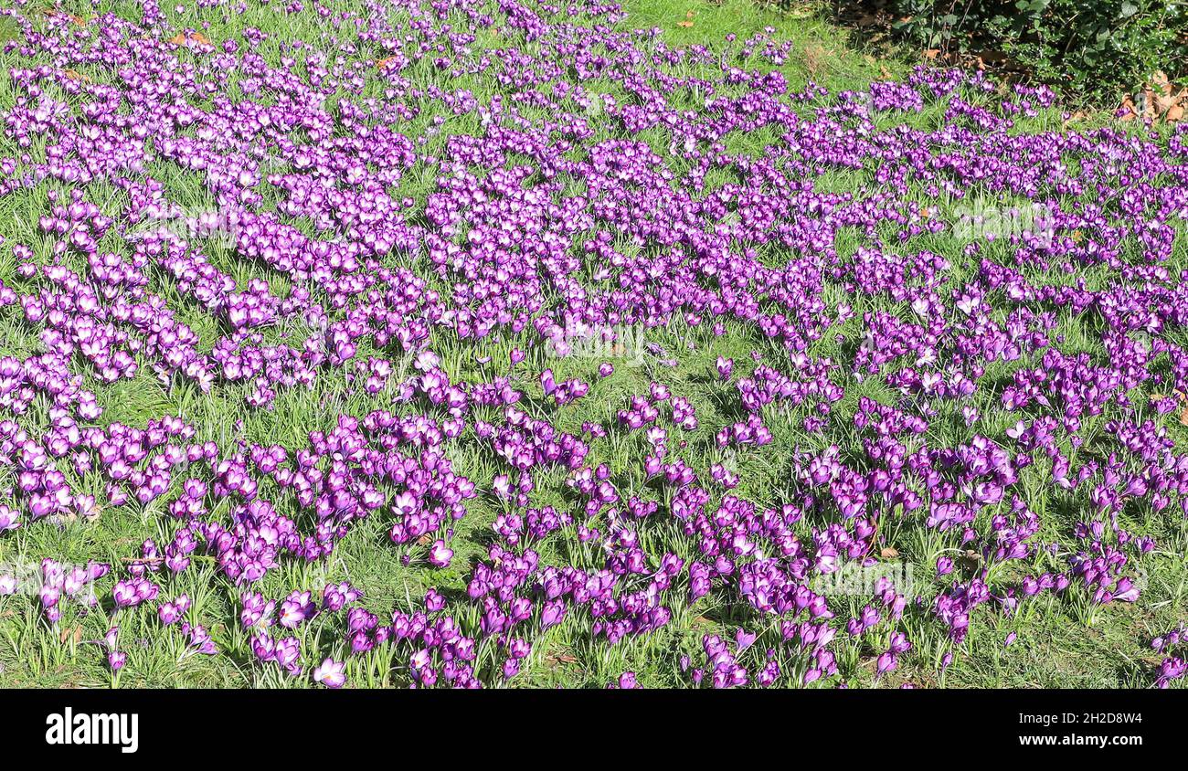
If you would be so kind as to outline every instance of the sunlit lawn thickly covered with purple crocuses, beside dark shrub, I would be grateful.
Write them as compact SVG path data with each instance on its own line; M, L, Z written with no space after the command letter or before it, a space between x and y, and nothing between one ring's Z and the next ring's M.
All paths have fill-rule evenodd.
M1188 132L746 0L0 15L0 685L1149 688Z

